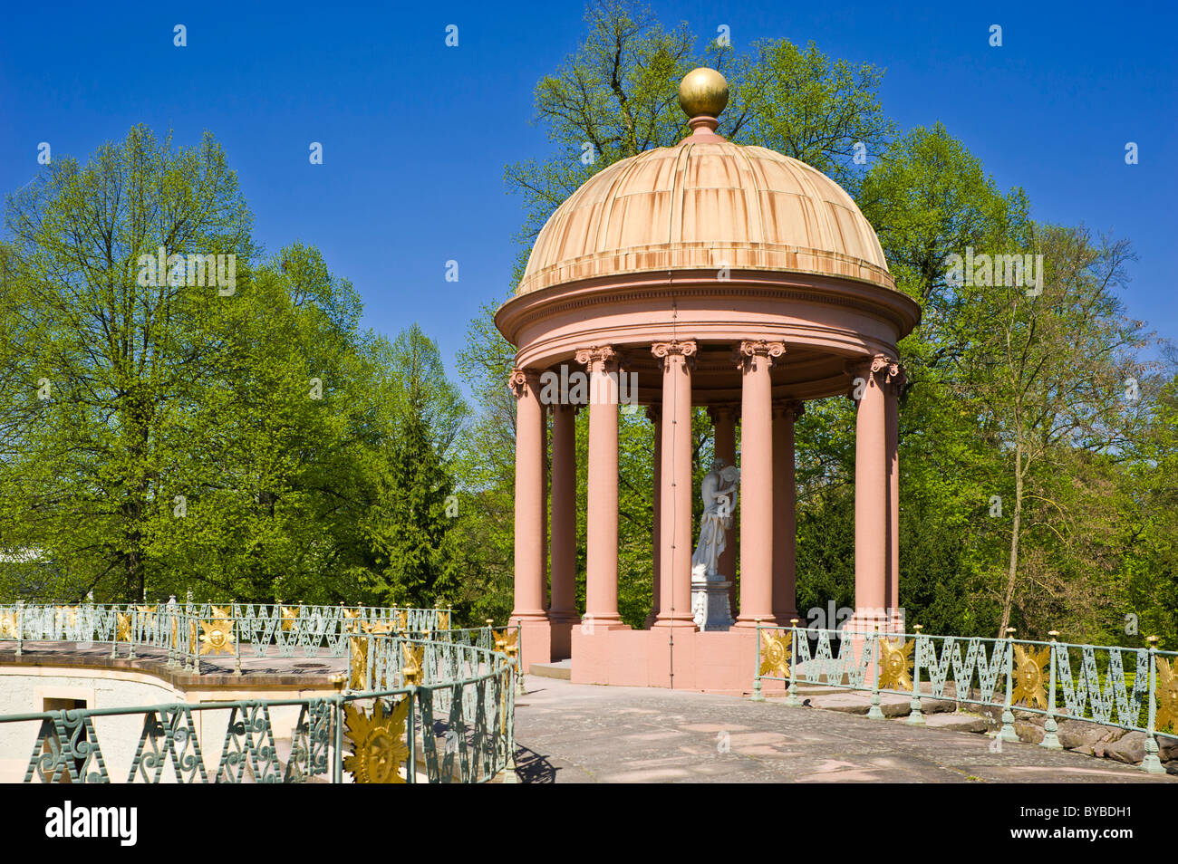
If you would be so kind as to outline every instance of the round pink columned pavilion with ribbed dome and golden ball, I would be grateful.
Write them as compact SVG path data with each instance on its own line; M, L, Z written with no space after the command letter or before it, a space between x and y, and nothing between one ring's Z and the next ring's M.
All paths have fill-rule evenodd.
M525 670L571 657L574 682L749 690L757 622L799 617L794 420L807 399L838 394L856 404L851 626L898 626L896 343L920 307L896 290L875 232L838 184L716 134L727 100L719 72L689 73L680 105L690 134L610 165L557 207L516 297L495 317L517 348L511 622L522 626ZM569 368L588 374L591 393L583 616L581 405L545 398L541 380ZM654 427L654 609L644 630L617 612L618 384L628 380ZM693 620L694 406L714 423L716 458L741 472L720 559L728 579L739 572L739 607L734 592L735 623L721 632Z

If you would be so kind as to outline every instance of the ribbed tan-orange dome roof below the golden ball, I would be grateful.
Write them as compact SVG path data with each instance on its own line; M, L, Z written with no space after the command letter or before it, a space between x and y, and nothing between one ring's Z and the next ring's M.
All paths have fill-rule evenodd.
M816 273L894 288L872 226L805 162L697 126L610 165L541 230L517 294L668 270Z

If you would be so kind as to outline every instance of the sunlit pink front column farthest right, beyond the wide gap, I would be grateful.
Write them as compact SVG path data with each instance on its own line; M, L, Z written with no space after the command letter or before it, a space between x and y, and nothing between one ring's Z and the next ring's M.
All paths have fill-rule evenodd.
M884 625L888 570L887 411L880 371L884 357L851 368L855 411L855 614L871 630Z

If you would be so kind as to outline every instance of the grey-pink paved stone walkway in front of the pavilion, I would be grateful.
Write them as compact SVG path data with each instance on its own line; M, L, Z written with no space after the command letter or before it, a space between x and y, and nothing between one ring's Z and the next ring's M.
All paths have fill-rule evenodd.
M773 700L527 677L528 783L1167 783L1080 753ZM720 752L727 732L730 752Z

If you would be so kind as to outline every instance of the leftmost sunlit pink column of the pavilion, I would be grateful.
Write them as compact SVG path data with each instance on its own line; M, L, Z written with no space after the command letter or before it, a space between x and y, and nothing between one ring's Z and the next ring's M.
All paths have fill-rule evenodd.
M514 370L516 397L515 610L511 620L544 620L544 407L540 373Z

